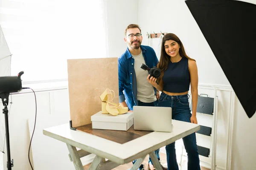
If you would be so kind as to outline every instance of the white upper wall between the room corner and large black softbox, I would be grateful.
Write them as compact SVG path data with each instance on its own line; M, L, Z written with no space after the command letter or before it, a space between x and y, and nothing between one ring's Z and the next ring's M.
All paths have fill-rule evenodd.
M139 24L144 37L146 31L176 34L189 56L197 61L199 82L230 85L184 0L139 2Z

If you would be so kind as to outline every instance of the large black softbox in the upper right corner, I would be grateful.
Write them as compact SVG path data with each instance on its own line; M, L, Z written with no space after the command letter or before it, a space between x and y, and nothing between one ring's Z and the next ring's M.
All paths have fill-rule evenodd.
M247 116L256 111L256 5L186 0Z

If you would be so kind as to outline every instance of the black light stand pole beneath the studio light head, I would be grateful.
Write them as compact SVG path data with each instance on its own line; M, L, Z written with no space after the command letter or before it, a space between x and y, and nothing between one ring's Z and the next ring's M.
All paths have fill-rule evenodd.
M5 114L5 124L6 124L6 146L7 146L7 169L12 170L13 159L11 161L11 152L10 152L10 137L9 137L9 121L8 121L8 99L9 93L1 93L0 98L2 99L4 108L3 114Z

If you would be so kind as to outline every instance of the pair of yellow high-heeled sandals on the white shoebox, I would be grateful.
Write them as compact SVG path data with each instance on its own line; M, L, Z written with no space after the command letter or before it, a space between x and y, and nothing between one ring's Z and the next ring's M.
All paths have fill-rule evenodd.
M102 114L110 113L116 116L128 112L128 107L122 107L122 105L113 102L114 96L115 92L108 88L99 96L102 101Z

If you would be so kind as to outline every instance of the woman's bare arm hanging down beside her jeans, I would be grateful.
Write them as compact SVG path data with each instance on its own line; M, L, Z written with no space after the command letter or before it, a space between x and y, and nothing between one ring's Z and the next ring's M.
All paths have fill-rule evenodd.
M196 119L196 108L198 103L198 69L196 62L189 59L189 74L190 74L190 85L191 85L191 94L192 94L192 116L191 123L197 124Z

